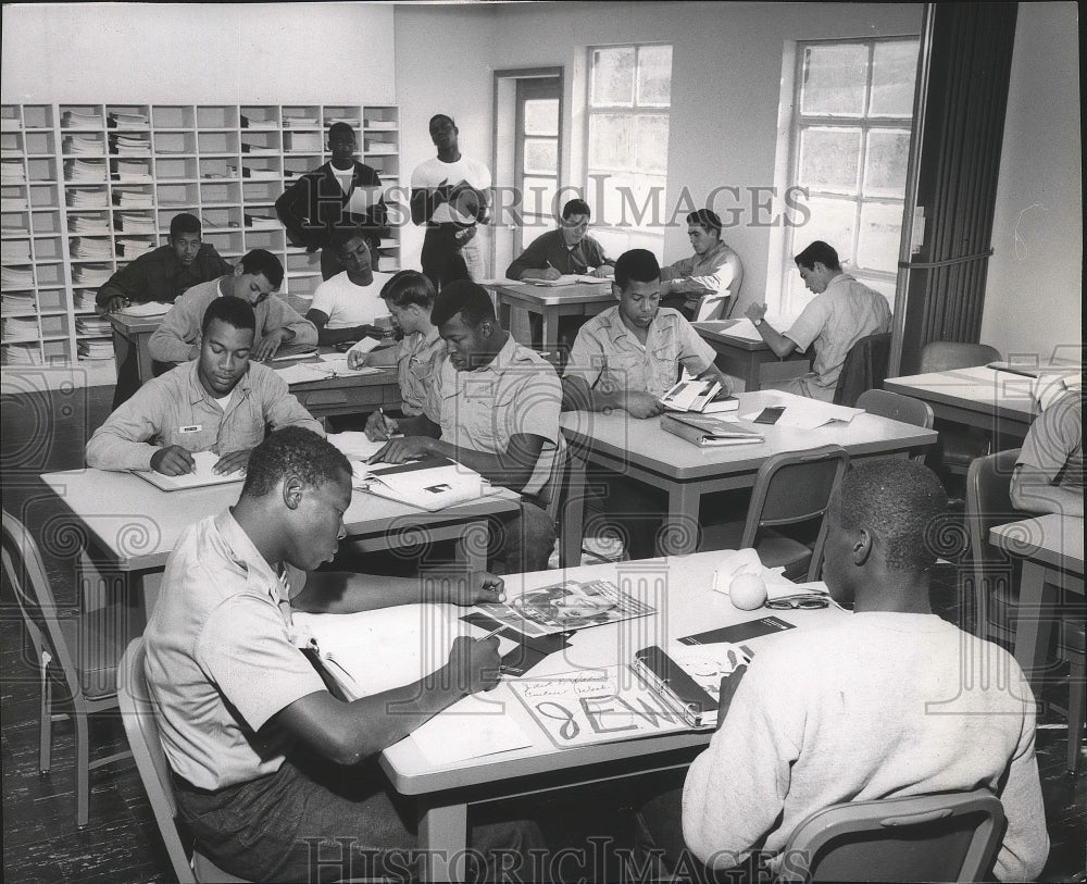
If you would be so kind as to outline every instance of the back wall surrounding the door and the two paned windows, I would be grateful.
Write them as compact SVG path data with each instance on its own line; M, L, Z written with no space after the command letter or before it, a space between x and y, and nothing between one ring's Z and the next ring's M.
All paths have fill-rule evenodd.
M405 183L411 169L434 153L426 129L430 114L453 115L462 151L489 163L495 70L552 65L565 67L564 130L573 135L563 158L566 183L580 183L585 145L576 108L584 104L586 47L669 41L674 46L669 201L682 186L699 204L719 186L772 187L785 41L919 34L922 9L921 3L399 5ZM723 197L715 206L726 219L736 203ZM766 290L772 228L758 225L748 206L739 225L724 235L745 262L741 303L762 299ZM409 263L417 260L414 236L405 237ZM666 233L664 256L673 261L689 252L680 215Z

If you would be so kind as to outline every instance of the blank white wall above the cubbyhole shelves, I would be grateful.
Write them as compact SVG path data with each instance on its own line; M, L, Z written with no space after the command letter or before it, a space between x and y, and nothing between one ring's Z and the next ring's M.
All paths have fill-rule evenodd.
M396 103L376 3L4 4L5 102Z

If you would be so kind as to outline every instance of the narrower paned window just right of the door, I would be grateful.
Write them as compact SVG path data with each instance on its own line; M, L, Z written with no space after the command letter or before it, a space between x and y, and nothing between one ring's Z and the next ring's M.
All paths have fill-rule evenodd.
M672 47L589 49L585 197L594 227L660 253L667 217ZM612 237L601 237L607 240Z

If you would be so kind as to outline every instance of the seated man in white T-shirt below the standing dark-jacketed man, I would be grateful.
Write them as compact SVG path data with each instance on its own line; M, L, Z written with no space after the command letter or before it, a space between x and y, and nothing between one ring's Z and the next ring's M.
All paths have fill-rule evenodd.
M332 248L343 271L317 286L305 313L305 319L317 328L318 344L379 338L384 334L375 321L388 315L380 291L390 277L388 273L374 272L368 240L370 236L360 228L333 231Z

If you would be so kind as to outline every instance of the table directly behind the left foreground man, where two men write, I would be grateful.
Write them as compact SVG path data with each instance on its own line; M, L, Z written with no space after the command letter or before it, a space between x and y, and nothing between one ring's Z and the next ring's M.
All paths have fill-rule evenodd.
M241 483L229 483L162 491L134 473L93 469L46 473L41 480L64 502L66 524L73 526L74 536L89 541L82 544L83 575L92 582L104 580L104 585L123 582L122 590L132 603L142 605L145 613L153 608L157 588L145 578L165 568L182 531L233 506L241 490ZM345 539L361 551L373 551L459 538L473 531L486 532L488 515L517 511L520 499L520 495L500 488L472 503L425 512L355 491L343 514ZM59 525L50 531L58 537L73 536ZM485 570L486 543L464 547L468 564Z

